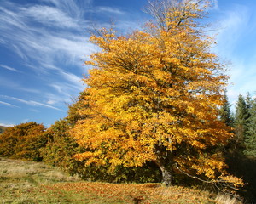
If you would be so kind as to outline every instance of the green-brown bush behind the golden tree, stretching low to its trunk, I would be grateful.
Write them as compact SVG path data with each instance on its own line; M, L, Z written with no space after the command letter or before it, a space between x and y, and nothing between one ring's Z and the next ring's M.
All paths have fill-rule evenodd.
M79 161L74 158L76 154L84 152L84 147L79 145L76 139L70 135L73 126L79 120L86 118L86 115L79 114L84 109L84 94L81 93L79 99L69 105L68 116L55 122L45 132L47 144L41 148L43 161L61 167L64 171L78 174L79 177L90 181L107 181L114 183L124 182L160 182L160 171L154 163L149 163L143 167L115 167L114 171L109 171L110 164L104 167L97 165L86 166L86 161Z

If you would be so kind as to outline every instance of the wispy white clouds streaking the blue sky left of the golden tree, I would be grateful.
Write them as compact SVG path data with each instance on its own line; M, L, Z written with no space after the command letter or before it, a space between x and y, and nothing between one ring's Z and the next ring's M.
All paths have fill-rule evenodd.
M93 0L0 0L0 45L15 60L14 65L0 61L0 71L22 73L14 72L14 77L9 77L5 71L6 76L0 75L3 102L11 105L15 101L22 109L30 105L30 111L40 111L38 107L66 109L67 105L63 105L85 87L81 82L88 68L82 66L84 60L98 49L89 41L91 25L109 27L108 18L113 16L119 17L119 30L125 32L126 28L137 26L131 20L134 15L126 15L121 8L94 7Z

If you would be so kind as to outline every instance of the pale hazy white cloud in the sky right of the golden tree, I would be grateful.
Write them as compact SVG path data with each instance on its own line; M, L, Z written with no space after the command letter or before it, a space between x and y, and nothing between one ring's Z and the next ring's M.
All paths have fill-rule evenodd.
M221 29L218 30L216 49L222 58L231 62L228 71L231 83L228 95L231 103L234 104L238 94L255 91L256 70L253 59L255 48L253 43L249 42L254 40L255 33L255 26L250 21L253 18L253 9L234 3L221 12L219 19Z

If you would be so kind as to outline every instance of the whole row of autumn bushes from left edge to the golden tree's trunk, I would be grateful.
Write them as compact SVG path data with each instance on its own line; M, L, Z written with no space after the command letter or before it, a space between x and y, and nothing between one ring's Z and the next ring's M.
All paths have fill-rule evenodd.
M86 166L85 161L74 159L74 155L84 151L69 131L74 124L83 119L78 113L82 109L81 100L69 105L68 116L56 121L46 128L36 122L26 122L9 127L0 134L0 156L27 161L44 161L55 167L61 167L71 175L90 181L105 181L111 183L126 182L160 182L160 171L154 163L147 163L143 167L116 167L109 171L110 164L105 167L97 165Z

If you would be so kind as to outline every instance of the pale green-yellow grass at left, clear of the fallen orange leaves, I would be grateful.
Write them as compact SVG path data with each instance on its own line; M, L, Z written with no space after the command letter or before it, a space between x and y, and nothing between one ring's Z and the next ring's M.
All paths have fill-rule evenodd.
M0 158L0 203L59 203L51 192L40 194L42 185L71 181L80 179L44 163Z

